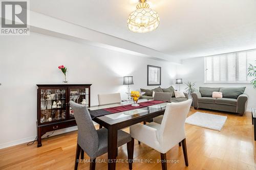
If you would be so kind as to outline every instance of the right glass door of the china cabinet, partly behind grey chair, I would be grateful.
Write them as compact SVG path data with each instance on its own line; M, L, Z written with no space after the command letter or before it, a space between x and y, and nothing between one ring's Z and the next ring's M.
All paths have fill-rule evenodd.
M89 88L77 87L69 89L70 101L89 107ZM69 117L74 118L72 108L69 108Z

